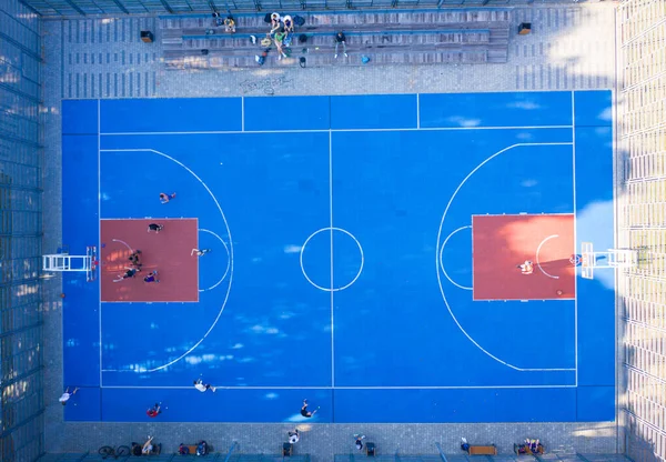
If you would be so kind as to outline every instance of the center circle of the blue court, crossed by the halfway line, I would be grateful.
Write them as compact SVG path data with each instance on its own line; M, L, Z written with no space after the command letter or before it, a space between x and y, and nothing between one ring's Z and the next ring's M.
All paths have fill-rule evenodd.
M322 228L301 248L301 271L315 288L336 292L352 285L363 271L363 248L342 228Z

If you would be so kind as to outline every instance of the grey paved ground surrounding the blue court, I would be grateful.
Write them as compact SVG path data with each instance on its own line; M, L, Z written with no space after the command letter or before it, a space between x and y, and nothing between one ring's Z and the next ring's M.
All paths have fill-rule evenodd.
M608 2L609 3L609 2ZM62 98L220 97L260 94L360 94L614 88L613 4L517 8L516 24L533 23L531 36L511 39L506 64L360 67L345 69L256 69L253 71L165 71L160 43L139 40L142 28L157 30L154 18L48 21L44 24L44 249L61 243L60 102ZM158 37L159 39L159 37ZM222 451L232 441L241 452L276 453L289 428L282 424L120 424L64 423L57 396L62 388L61 284L48 281L44 361L47 364L47 450L95 451L155 434L168 450L181 441L211 441ZM49 399L48 396L52 396ZM316 462L353 450L352 434L365 433L383 453L458 451L460 438L498 445L538 436L551 451L610 453L623 450L615 423L603 424L322 424L307 430L297 452Z

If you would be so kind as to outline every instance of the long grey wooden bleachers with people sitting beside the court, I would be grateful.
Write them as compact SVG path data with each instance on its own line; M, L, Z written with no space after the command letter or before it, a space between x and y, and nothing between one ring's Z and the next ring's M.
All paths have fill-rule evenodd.
M278 60L270 47L265 67L307 67L369 64L427 64L506 62L511 24L509 9L442 9L415 11L365 11L300 14L305 23L296 27L289 58ZM265 48L265 13L234 14L236 32L215 27L210 14L160 18L158 39L164 49L168 69L255 68L255 56ZM211 30L214 33L211 34ZM334 58L336 31L346 36L347 58ZM297 37L305 34L306 42ZM251 36L256 37L252 43ZM202 50L208 50L206 54Z

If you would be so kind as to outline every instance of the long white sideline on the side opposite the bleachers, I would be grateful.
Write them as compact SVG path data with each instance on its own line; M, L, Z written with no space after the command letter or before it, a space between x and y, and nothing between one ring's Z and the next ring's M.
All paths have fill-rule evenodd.
M191 390L188 386L131 386L111 385L105 389L121 390ZM220 386L216 390L512 390L512 389L573 389L576 385L468 385L468 386Z

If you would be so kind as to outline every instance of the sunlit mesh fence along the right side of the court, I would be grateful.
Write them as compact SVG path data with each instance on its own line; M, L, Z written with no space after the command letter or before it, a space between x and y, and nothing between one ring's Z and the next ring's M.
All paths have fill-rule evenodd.
M617 279L627 454L666 459L666 2L617 10L617 240L639 250Z

